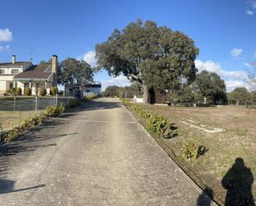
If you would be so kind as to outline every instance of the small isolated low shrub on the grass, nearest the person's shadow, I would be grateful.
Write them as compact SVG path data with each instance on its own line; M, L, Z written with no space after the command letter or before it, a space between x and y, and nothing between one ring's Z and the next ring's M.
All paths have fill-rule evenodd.
M197 141L178 141L177 144L181 146L181 157L187 161L196 160L208 151L206 146L199 145Z

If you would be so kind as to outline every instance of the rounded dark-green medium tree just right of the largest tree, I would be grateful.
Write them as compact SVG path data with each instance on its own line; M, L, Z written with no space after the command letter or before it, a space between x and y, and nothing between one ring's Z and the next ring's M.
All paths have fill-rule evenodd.
M225 81L218 74L206 70L196 74L193 90L202 97L210 98L214 103L225 103L227 100Z

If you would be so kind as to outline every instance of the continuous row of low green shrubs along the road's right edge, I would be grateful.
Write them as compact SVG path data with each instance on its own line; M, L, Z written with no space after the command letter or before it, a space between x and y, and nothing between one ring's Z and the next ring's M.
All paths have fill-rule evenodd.
M162 114L151 113L138 104L130 103L128 99L123 99L123 104L131 108L138 117L145 123L148 132L156 133L159 137L169 139L176 136L176 125L169 122Z

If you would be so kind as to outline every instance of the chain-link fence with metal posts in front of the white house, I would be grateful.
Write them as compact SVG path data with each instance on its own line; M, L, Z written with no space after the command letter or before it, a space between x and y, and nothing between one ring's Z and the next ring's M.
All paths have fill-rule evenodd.
M70 104L63 97L0 97L0 127L7 130L20 124L23 119L44 112L48 106ZM0 128L1 130L1 128Z

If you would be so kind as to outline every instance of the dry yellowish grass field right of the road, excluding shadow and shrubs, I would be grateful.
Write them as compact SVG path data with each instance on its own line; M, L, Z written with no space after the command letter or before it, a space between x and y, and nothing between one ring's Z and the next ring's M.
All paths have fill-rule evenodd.
M186 108L166 106L143 106L154 113L162 113L178 126L178 136L164 140L176 160L194 175L202 187L213 190L215 198L224 201L225 189L221 181L234 164L242 158L256 178L256 109L225 106L222 108ZM201 129L203 128L203 129ZM207 132L214 128L223 132ZM177 142L196 140L209 150L194 162L181 158ZM246 180L244 180L246 181ZM256 199L256 181L252 185Z

